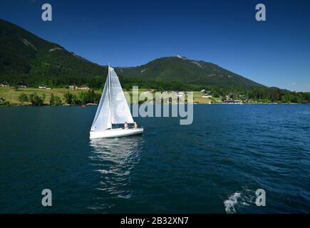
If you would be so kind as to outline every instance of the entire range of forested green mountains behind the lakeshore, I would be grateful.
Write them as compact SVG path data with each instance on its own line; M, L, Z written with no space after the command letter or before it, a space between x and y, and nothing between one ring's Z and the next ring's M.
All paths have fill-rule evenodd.
M157 58L142 66L118 67L116 71L127 87L135 83L160 88L174 83L177 83L177 88L184 87L182 85L262 86L213 63L182 56ZM106 72L106 66L91 63L56 43L45 41L24 28L0 19L0 82L25 81L29 86L39 83L50 86L86 83L91 87L100 87Z

